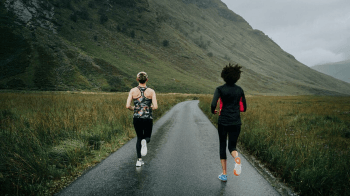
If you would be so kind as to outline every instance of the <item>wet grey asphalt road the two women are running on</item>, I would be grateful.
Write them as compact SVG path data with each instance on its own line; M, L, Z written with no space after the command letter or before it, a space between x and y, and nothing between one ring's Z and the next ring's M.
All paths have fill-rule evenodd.
M228 181L218 179L217 129L198 101L177 104L154 124L140 168L135 144L136 138L57 195L279 195L243 156L240 176L228 156Z

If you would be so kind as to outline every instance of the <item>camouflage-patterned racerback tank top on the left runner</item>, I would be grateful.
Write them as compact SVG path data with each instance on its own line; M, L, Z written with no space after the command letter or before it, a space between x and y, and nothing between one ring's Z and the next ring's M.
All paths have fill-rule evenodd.
M144 95L147 87L138 86L137 88L140 90L141 96L134 99L134 118L153 119L151 108L152 99L148 99Z

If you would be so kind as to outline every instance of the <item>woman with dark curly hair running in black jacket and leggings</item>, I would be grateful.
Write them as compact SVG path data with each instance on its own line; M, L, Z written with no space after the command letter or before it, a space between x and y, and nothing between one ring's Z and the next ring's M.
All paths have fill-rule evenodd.
M241 117L240 112L245 112L247 104L244 96L244 91L241 87L235 83L241 76L241 66L235 64L234 66L229 64L224 67L221 72L221 77L226 84L216 88L213 100L211 102L211 112L216 114L215 110L217 101L220 98L219 119L218 119L218 132L220 142L220 159L222 166L222 174L219 175L219 179L226 182L226 142L228 134L228 150L231 156L235 160L235 169L233 173L238 176L241 173L241 159L238 157L236 149L237 139L241 132ZM241 104L240 104L241 103ZM241 106L240 106L241 105ZM241 108L240 108L241 107Z

